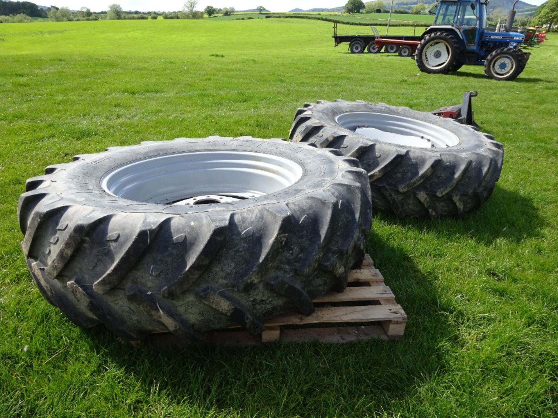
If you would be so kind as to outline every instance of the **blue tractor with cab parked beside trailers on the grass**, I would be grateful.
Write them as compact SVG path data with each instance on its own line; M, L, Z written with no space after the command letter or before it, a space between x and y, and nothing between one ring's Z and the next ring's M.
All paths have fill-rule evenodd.
M510 32L515 5L508 12L503 32L487 30L488 0L441 0L431 9L434 24L423 34L415 54L421 71L446 74L464 64L484 65L494 80L513 80L527 64L530 52L519 45L521 33Z

